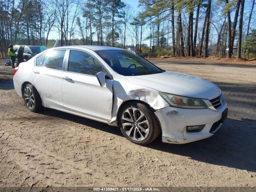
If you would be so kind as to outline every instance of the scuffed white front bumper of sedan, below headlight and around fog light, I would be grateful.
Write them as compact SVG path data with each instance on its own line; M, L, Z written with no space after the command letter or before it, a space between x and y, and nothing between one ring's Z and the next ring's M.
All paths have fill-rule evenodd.
M218 111L211 109L183 109L168 106L155 112L162 128L162 142L184 144L212 135L212 128L215 122L222 118L222 112L227 108L226 102L222 104ZM203 125L200 132L186 132L186 126ZM216 127L215 131L222 124Z

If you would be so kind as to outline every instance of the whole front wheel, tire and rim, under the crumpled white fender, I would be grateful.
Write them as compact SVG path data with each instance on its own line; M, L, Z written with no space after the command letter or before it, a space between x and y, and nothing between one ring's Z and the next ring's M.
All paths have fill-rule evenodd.
M140 145L150 144L161 131L154 112L145 104L138 102L122 106L118 124L128 140Z

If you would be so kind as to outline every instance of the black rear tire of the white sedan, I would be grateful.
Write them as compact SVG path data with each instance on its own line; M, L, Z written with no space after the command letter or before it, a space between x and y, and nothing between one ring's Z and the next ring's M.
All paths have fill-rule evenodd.
M31 90L31 92L32 92L31 96L30 96L30 91L28 91L28 90ZM31 98L31 100L32 99L34 100L34 105L33 106L28 104L28 100L29 100L28 95ZM27 108L30 111L38 112L38 111L42 110L42 100L41 100L40 95L37 92L36 88L32 84L27 83L23 86L22 96L23 96L25 105L27 106Z

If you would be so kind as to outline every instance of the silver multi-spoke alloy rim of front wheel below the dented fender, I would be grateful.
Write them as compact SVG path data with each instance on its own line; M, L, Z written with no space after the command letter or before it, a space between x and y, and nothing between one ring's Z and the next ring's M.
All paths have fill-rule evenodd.
M148 137L150 125L146 115L138 108L127 108L122 114L124 132L134 141L142 141Z

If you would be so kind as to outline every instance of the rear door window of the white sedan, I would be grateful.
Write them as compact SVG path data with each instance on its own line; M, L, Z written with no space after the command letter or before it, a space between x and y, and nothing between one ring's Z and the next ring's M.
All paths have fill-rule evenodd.
M65 53L66 50L48 51L44 56L44 67L61 70Z

